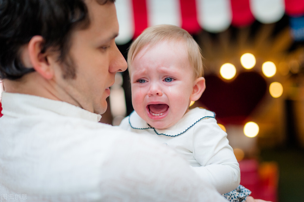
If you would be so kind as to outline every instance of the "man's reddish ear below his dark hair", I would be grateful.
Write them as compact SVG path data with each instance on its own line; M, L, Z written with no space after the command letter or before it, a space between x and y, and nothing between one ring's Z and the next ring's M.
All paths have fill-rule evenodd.
M47 60L47 52L41 53L44 43L42 36L33 36L28 44L29 58L33 68L45 79L52 79L54 76L53 68Z

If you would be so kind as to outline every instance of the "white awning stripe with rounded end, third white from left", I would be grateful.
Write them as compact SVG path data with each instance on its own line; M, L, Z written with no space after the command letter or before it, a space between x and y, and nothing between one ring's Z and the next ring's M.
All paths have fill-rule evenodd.
M196 0L197 20L208 32L222 32L232 21L230 0Z

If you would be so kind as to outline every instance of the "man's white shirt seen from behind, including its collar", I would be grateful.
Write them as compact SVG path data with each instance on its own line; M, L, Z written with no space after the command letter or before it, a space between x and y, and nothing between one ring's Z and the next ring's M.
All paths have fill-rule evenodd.
M173 150L100 115L15 93L2 107L0 201L226 201Z

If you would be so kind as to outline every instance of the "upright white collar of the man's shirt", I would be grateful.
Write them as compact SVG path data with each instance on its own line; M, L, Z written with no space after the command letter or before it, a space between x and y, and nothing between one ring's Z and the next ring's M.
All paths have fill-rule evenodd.
M56 113L62 116L70 116L98 122L101 115L89 112L72 104L47 99L39 96L2 92L2 114L9 116L45 115Z

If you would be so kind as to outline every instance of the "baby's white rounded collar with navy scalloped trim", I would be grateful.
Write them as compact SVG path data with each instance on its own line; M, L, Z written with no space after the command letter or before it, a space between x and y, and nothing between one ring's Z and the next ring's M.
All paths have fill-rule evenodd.
M166 129L157 129L148 125L147 122L145 122L135 111L133 111L129 115L129 124L133 129L136 130L151 129L154 130L157 135L175 137L185 133L196 123L206 118L215 118L215 113L207 109L196 107L187 112L181 118L181 120L179 120L173 126Z

